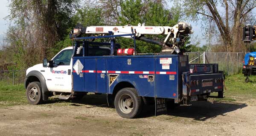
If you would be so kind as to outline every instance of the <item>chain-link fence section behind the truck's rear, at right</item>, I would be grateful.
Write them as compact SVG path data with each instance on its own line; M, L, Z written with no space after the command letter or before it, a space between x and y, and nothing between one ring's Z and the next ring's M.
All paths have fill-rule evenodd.
M246 52L187 52L189 63L218 63L220 71L226 74L239 74L242 71Z

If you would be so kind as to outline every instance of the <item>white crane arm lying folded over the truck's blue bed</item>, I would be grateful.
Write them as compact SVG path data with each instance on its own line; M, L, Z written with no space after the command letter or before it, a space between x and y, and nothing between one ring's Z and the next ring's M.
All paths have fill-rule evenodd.
M180 22L177 25L170 26L145 26L145 23L138 26L87 26L77 25L71 34L73 37L79 37L81 34L134 34L137 40L161 45L162 51L175 51L179 54L179 48L184 45L188 34L192 34L192 26L189 23ZM167 35L163 40L150 39L145 34ZM131 37L127 37L131 38Z

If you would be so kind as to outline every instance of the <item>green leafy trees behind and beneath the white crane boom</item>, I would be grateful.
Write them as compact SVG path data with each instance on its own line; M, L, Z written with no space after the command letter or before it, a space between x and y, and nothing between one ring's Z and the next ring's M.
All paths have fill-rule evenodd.
M138 23L145 23L146 26L174 26L178 23L180 12L176 8L168 10L163 3L164 0L99 0L106 24L137 26ZM135 8L136 7L136 8ZM161 35L146 35L146 37L157 37ZM123 45L122 48L131 47L133 40L117 38ZM139 53L158 53L160 45L153 45L142 41L136 41Z

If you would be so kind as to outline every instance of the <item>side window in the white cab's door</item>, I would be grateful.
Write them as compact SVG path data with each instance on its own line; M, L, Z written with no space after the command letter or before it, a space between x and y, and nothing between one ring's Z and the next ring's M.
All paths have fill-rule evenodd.
M57 65L70 65L70 60L73 54L72 49L61 51L56 57L52 60Z

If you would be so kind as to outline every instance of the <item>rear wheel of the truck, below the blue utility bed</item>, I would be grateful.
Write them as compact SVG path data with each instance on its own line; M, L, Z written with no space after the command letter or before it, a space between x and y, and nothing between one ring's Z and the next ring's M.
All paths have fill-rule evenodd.
M123 88L115 96L115 108L123 118L135 118L143 109L143 99L137 95L135 88Z

